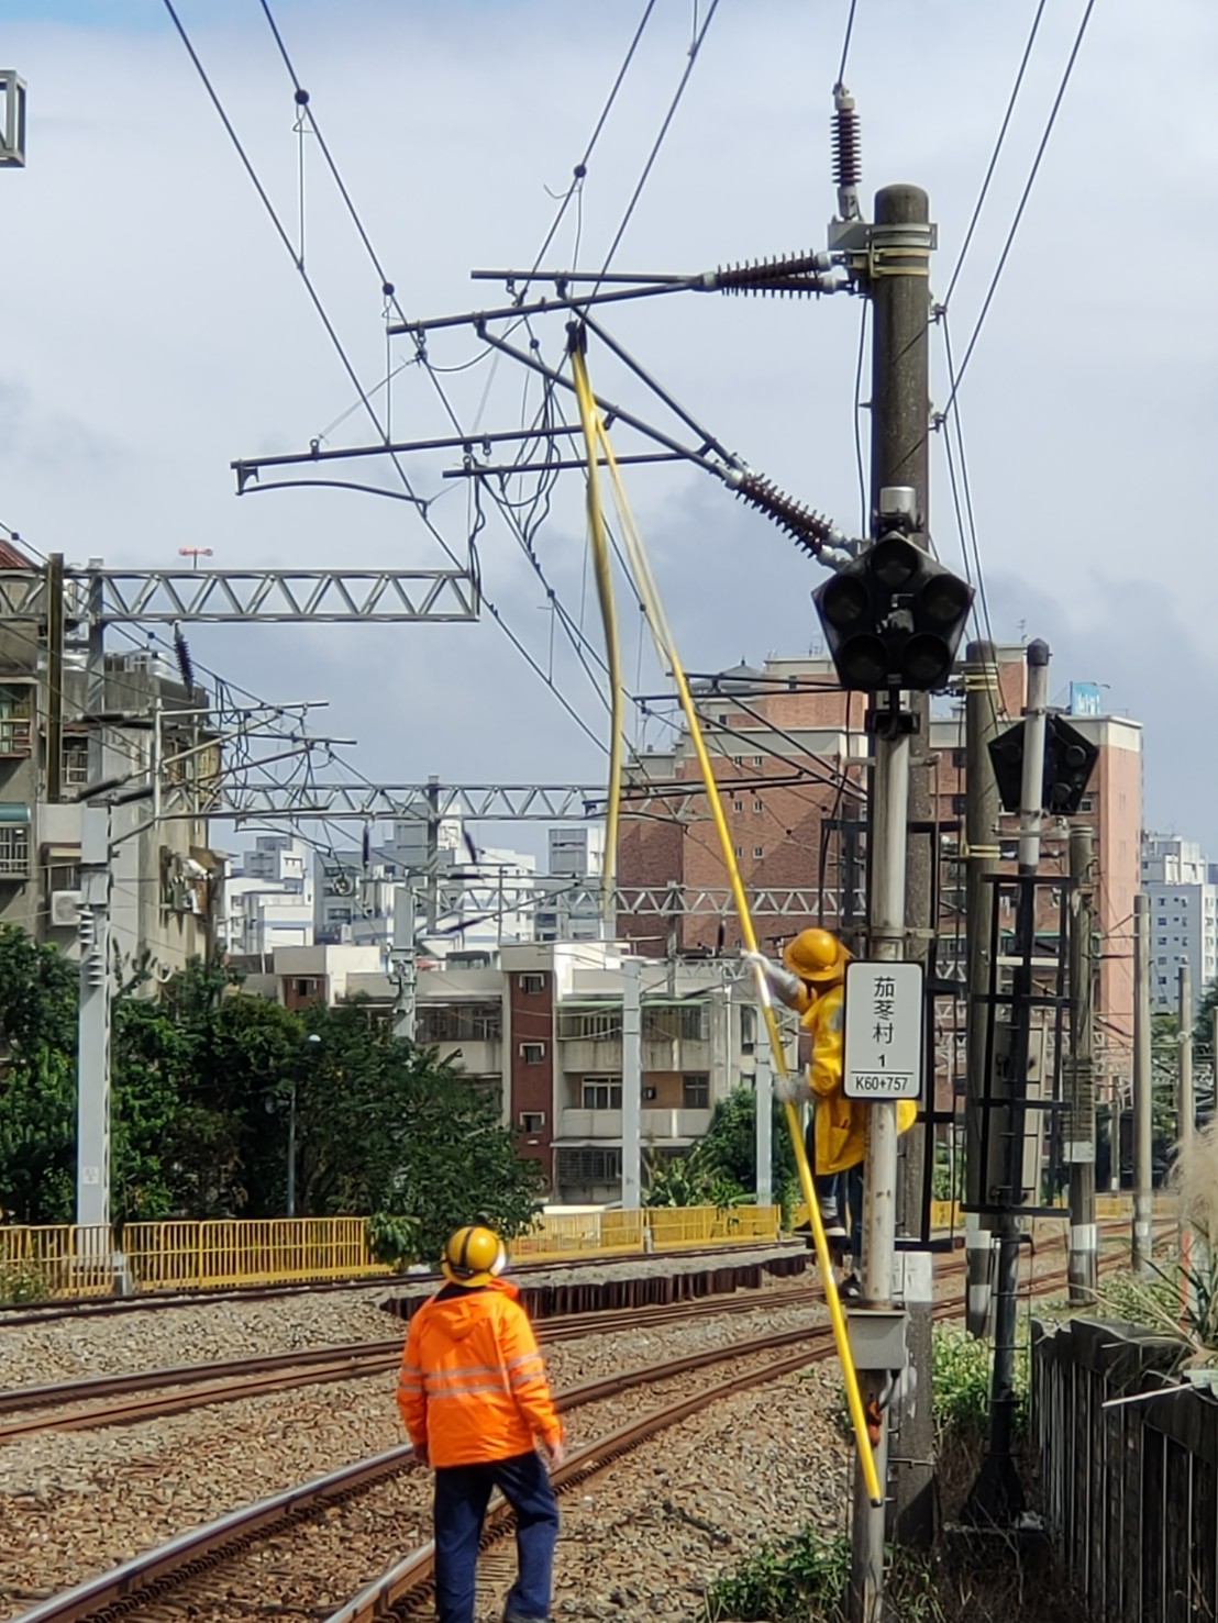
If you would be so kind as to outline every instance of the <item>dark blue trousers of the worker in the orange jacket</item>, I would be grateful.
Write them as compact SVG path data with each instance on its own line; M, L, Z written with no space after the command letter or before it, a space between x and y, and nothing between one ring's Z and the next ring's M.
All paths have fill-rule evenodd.
M516 1581L507 1618L546 1618L551 1610L559 1506L539 1456L513 1454L476 1466L435 1470L435 1617L437 1623L474 1623L474 1573L490 1490L516 1513Z

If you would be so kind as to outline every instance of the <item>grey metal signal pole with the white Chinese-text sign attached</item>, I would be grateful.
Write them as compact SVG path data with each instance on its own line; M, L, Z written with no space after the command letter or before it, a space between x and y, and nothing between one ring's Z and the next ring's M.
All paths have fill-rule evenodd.
M892 717L885 727L887 716ZM872 781L870 956L900 961L905 953L905 857L909 826L909 734L901 717L880 712ZM870 1308L892 1307L896 1255L896 1100L867 1107L867 1159L862 1185L862 1298ZM864 1407L880 1410L890 1370L859 1370ZM908 1448L908 1444L906 1444ZM888 1427L875 1448L880 1482L888 1479ZM880 1623L885 1612L885 1508L870 1503L862 1472L854 1479L851 1526L851 1600L856 1623Z

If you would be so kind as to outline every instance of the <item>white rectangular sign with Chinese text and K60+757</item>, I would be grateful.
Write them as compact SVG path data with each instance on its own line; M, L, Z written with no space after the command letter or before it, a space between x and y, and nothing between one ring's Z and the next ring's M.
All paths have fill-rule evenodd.
M846 966L841 1091L848 1099L922 1094L922 966Z

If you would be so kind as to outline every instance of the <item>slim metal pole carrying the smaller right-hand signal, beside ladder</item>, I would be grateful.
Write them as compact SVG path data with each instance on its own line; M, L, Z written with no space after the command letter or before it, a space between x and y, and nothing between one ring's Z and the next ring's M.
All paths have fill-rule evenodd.
M1049 646L1039 639L1028 644L1028 703L1023 724L1023 782L1020 789L1020 876L1034 878L1041 863L1041 802L1044 799L1044 742L1049 701ZM1012 1457L1015 1436L1015 1336L1018 1328L1020 1282L1020 1212L1023 1198L1023 1141L1026 1112L1023 1099L1028 1086L1031 1055L1030 959L1036 945L1036 886L1020 891L1015 920L1015 958L1012 974L1012 1040L1010 1040L1010 1112L1007 1183L1009 1209L999 1216L997 1287L994 1290L994 1380L989 1404L989 1448L965 1505L965 1519L973 1524L1010 1526L1023 1513L1023 1483Z

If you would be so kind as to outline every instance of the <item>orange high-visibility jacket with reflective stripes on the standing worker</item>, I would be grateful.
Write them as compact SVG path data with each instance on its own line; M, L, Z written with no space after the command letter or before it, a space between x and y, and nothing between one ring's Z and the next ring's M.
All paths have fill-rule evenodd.
M411 1319L398 1409L434 1466L471 1466L557 1443L562 1425L533 1326L503 1281L442 1292Z

